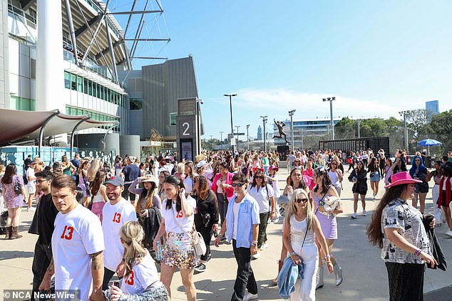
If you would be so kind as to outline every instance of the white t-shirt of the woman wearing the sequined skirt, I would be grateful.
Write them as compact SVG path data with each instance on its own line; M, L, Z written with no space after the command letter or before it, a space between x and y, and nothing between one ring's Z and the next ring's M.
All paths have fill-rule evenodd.
M184 232L190 232L193 228L193 223L195 221L195 214L192 214L191 216L184 216L182 210L176 211L176 204L175 202L172 202L172 206L169 210L166 209L166 202L171 201L168 199L165 199L162 204L162 217L165 218L165 231L166 233L173 232L173 233L184 233ZM193 212L196 208L196 201L191 196L187 196L187 204L188 206L193 208ZM175 219L177 218L178 223L180 226L178 226L178 223L175 222ZM182 229L180 229L182 228Z

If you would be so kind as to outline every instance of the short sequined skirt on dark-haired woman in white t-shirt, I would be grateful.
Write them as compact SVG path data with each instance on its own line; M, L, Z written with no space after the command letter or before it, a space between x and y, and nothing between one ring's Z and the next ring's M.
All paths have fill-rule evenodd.
M200 260L195 256L192 245L192 232L168 233L168 238L163 248L162 263L172 268L195 268Z

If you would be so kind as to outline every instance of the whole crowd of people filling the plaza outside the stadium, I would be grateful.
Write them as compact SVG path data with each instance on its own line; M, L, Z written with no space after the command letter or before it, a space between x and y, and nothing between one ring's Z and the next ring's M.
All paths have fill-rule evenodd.
M282 250L274 281L282 296L314 300L315 290L324 286L325 266L334 273L336 285L343 281L333 245L338 239L336 216L343 212L345 174L353 184L353 219L358 218L359 199L362 216L367 215L368 179L373 199L384 181L384 196L368 235L382 249L391 300L399 300L404 278L396 279L398 273L406 278L413 273L416 285L423 279L423 270L406 268L406 263L438 264L424 239L428 228L422 227L431 179L436 208L428 227L446 223L446 235L452 237L451 156L435 162L431 172L421 154L412 157L410 169L407 159L403 149L396 150L394 158L383 149L376 154L371 149L293 150L286 162L289 175L280 187L277 152L206 152L181 162L177 154L150 156L143 162L117 156L113 168L78 154L72 160L63 156L51 166L29 156L23 176L16 165L0 164L0 210L7 211L6 239L22 237L18 231L22 206L36 210L29 230L38 234L34 291L50 290L55 275L57 290L80 289L82 300L170 300L173 275L179 269L187 300L196 300L193 275L207 269L215 236L216 246L232 244L237 260L231 300L254 300L258 287L251 260L265 257L267 225L281 220ZM414 231L422 245L399 230L407 223L406 214L420 220ZM197 233L206 246L202 254L193 243ZM394 256L392 250L401 255ZM303 277L297 277L299 273ZM120 283L112 284L115 274ZM411 296L420 292L409 293L403 300L418 300Z

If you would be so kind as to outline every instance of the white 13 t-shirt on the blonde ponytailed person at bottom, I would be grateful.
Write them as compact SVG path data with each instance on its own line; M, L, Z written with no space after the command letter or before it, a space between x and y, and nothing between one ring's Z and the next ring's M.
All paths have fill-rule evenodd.
M123 278L120 287L123 292L133 295L145 292L145 290L153 283L153 287L160 287L160 285L163 285L158 278L155 262L153 258L150 257L148 250L146 250L145 257L138 265L133 265L129 275Z

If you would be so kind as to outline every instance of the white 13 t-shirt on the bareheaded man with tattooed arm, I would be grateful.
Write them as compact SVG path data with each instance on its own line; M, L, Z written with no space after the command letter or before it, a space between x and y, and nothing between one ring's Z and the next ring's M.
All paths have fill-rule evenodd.
M101 250L102 226L94 213L81 205L58 213L52 234L56 290L81 290L81 300L88 300L93 282L89 254Z

